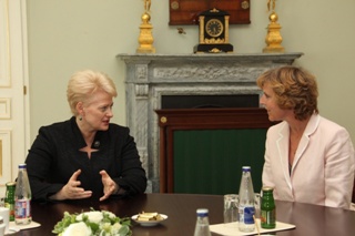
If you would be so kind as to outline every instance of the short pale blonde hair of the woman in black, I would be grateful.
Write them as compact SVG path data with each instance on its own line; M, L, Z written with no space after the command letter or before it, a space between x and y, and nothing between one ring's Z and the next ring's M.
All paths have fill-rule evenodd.
M91 94L97 91L104 91L111 96L118 95L113 81L104 73L84 70L75 72L68 82L67 100L71 112L78 115L77 104L90 99Z

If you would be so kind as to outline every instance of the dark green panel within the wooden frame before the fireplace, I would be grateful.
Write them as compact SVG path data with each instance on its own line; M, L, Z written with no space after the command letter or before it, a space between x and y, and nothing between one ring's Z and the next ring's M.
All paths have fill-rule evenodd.
M266 129L174 131L174 193L237 193L242 166L262 187Z

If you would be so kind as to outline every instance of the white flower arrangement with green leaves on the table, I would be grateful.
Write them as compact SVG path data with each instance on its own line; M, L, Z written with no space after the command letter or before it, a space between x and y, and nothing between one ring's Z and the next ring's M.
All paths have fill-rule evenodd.
M108 211L70 214L58 222L52 230L59 236L131 236L130 218L120 218Z

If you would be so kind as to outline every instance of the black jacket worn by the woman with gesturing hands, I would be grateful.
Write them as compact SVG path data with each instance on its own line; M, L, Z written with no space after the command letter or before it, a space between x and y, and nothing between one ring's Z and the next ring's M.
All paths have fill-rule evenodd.
M48 201L81 170L78 181L93 198L103 196L100 171L105 170L125 195L143 193L146 187L145 171L138 154L134 138L128 127L110 124L108 131L98 131L91 153L79 151L87 146L75 117L42 126L34 140L26 163L31 185L32 199Z

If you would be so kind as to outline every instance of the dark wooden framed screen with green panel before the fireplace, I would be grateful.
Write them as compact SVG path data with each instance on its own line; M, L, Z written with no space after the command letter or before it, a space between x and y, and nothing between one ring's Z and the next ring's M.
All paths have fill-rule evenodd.
M260 191L266 131L273 125L264 109L155 112L161 193L236 193L243 165L252 166L254 191Z

